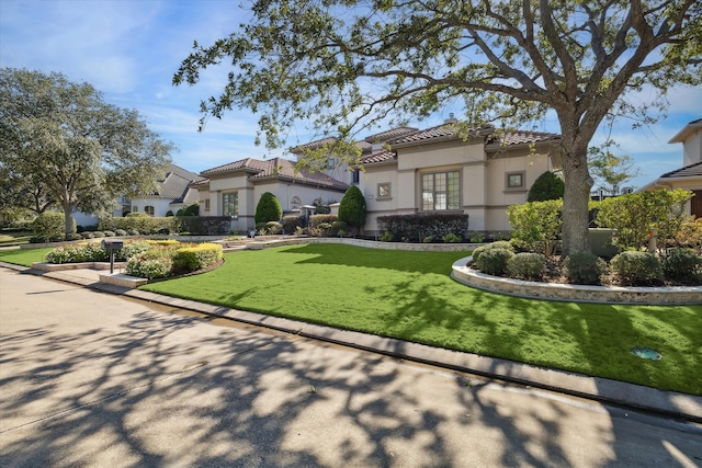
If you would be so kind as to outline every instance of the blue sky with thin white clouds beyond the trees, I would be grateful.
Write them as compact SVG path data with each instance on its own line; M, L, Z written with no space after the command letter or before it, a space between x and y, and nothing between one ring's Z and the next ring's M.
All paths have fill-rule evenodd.
M0 0L0 67L58 71L93 84L106 102L139 111L152 130L178 146L173 161L193 172L247 157L285 156L253 145L257 118L247 111L210 119L197 133L200 101L222 90L226 67L208 70L195 87L171 85L193 41L210 45L246 18L236 0ZM682 165L681 145L668 140L702 117L702 88L673 89L669 100L668 117L659 124L632 130L623 121L614 128L614 152L630 155L641 169L634 186ZM455 110L416 125L435 125L449 112ZM540 129L559 132L554 119ZM304 128L298 132L290 145L309 138ZM593 142L604 138L602 132Z

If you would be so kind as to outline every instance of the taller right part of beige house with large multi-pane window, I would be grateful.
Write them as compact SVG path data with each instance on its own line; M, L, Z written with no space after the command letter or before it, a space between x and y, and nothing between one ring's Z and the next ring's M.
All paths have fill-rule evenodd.
M463 138L455 122L372 135L359 141L360 171L328 170L365 195L366 235L382 235L378 216L437 212L467 214L471 231L509 231L507 207L525 203L543 172L561 169L559 135L485 126Z

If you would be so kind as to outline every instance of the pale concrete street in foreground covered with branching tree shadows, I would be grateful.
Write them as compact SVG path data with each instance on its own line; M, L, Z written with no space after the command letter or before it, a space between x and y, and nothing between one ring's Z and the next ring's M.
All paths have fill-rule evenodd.
M0 466L697 466L698 425L0 269Z

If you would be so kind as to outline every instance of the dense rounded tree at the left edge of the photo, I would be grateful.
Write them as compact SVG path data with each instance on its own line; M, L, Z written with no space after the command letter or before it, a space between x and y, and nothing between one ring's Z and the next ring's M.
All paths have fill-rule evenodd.
M42 213L111 212L117 196L156 189L173 145L135 110L106 104L88 83L64 75L0 69L0 173L10 203Z

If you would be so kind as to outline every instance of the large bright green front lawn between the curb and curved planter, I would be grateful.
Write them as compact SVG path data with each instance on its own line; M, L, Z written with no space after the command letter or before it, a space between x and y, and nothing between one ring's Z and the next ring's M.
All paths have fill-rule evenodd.
M305 244L225 254L144 289L486 356L702 395L702 306L520 299L450 278L463 252ZM634 346L663 354L634 356Z

